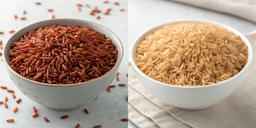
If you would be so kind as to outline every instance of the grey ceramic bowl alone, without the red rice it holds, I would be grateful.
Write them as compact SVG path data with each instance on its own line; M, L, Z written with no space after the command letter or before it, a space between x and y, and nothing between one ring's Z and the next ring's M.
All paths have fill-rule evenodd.
M94 30L97 30L101 33L104 33L107 37L110 37L112 39L112 42L116 45L116 49L118 50L118 58L116 60L115 66L108 73L97 79L67 85L47 84L32 81L20 76L20 74L16 73L12 68L10 68L8 63L8 53L10 50L10 45L12 45L13 42L16 42L22 35L26 34L31 30L54 24L86 26L93 28ZM115 78L116 73L118 72L118 69L120 67L122 57L123 46L121 44L121 41L112 31L99 24L78 19L53 19L31 24L14 33L13 36L10 37L9 40L5 43L3 49L3 59L7 67L7 72L10 78L15 83L16 87L29 99L39 104L42 104L50 109L60 111L80 108L86 103L98 97L104 90L106 90L106 88L108 88L108 86Z

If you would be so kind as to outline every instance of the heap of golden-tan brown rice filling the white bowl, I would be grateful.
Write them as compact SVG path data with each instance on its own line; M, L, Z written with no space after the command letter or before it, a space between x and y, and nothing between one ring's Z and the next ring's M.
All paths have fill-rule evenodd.
M137 66L148 77L178 86L214 84L235 76L247 63L248 46L226 29L170 24L145 37Z

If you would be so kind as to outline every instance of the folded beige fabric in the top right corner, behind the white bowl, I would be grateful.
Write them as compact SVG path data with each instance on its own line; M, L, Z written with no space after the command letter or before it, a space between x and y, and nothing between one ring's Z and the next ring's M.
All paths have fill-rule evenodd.
M254 0L169 0L201 8L228 13L256 23L256 1Z

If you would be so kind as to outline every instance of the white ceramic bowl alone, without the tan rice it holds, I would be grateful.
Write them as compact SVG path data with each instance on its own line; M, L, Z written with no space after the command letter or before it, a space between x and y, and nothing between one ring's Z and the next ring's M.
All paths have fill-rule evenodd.
M151 79L146 76L140 69L136 66L136 53L137 45L140 44L145 37L153 33L153 31L163 28L169 24L176 23L198 23L206 25L215 25L217 27L225 28L229 31L233 31L234 34L240 35L241 39L248 45L248 62L243 67L243 69L234 77L211 85L206 86L196 86L196 87L183 87L175 86L166 83L162 83ZM153 94L157 99L173 105L177 108L184 110L201 110L208 108L209 106L218 103L225 98L227 98L241 83L244 73L250 66L252 62L252 46L249 40L238 30L217 22L207 21L207 20L180 20L175 22L169 22L165 24L158 25L151 29L146 30L142 33L133 43L130 51L130 59L138 80L141 82L143 87Z

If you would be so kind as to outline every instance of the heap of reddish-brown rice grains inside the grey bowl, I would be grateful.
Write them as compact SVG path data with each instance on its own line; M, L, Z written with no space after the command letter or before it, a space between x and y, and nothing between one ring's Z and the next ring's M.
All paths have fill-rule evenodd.
M93 80L110 71L117 59L111 39L87 27L52 25L20 39L11 45L9 64L21 76L37 82Z

